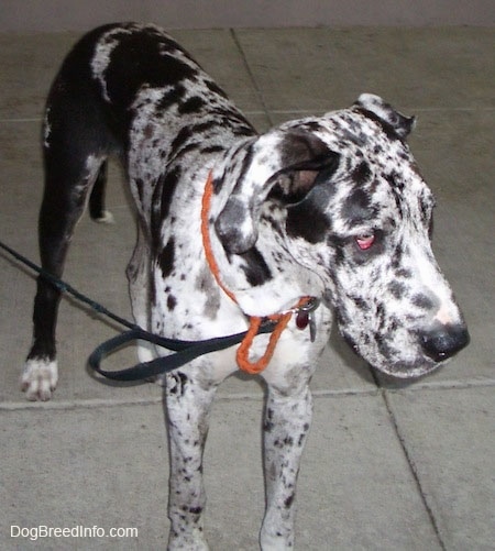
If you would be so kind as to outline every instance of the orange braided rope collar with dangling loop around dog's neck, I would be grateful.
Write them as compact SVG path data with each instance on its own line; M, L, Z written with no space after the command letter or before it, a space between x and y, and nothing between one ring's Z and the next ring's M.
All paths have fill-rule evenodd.
M221 289L226 293L226 295L229 298L231 298L235 304L238 304L234 294L230 289L228 289L223 285L223 282L221 280L220 269L218 267L217 261L215 260L213 251L211 247L210 233L208 231L208 213L210 211L212 194L213 194L213 178L210 172L205 186L205 194L202 196L202 203L201 203L202 245L205 249L208 266L210 267L210 271L213 274L217 284L219 285L219 287L221 287ZM302 298L299 301L298 307L301 306L301 304L307 302L307 300L308 300L307 298ZM293 313L288 311L286 313L277 313L274 316L270 316L270 319L272 321L276 321L277 324L273 330L272 334L270 335L270 341L266 346L265 353L256 362L251 362L249 355L251 345L253 344L253 340L257 334L257 331L260 329L263 319L256 316L250 317L250 328L243 341L241 342L235 355L238 365L242 371L250 373L251 375L255 375L257 373L261 373L268 365L270 361L272 360L273 353L275 352L278 339L280 338L284 329L287 327L287 323L289 322L292 315Z

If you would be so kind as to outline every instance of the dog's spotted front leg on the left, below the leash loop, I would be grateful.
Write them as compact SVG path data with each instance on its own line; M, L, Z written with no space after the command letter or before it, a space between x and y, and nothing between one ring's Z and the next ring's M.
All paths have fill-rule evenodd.
M190 372L189 372L190 373ZM166 376L166 409L170 450L168 550L205 551L202 452L217 385L206 387L185 372Z

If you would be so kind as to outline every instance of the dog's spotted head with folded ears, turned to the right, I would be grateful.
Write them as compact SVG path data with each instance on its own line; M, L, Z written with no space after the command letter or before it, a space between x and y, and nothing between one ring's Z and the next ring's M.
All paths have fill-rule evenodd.
M323 282L346 341L399 377L428 373L469 341L431 250L435 200L405 142L414 124L372 95L285 123L231 152L216 217L226 251L242 254L276 210L272 227Z

